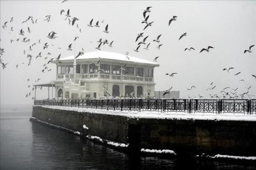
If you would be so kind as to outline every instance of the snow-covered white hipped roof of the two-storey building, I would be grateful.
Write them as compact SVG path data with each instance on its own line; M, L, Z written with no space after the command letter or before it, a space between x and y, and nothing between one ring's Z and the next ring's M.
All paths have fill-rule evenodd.
M129 59L126 57L128 56ZM155 62L143 60L137 57L132 57L130 55L124 55L124 54L119 54L116 52L107 52L107 51L93 51L93 52L86 52L83 55L80 55L77 60L79 59L94 59L94 58L103 58L103 59L110 59L110 60L119 60L119 61L127 61L127 62L135 62L135 63L144 63L144 64L150 64L150 65L155 65L159 66ZM68 56L68 57L63 57L60 58L59 60L73 60L74 55Z

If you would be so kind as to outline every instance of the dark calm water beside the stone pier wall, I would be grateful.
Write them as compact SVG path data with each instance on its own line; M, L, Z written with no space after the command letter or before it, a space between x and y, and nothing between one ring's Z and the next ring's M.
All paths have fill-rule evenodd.
M16 111L11 109L17 108ZM1 170L253 170L252 162L139 157L29 121L32 106L1 106Z

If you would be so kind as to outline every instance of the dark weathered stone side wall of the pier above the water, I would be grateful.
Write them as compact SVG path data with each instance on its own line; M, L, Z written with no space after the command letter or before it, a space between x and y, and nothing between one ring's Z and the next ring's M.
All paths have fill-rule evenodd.
M255 121L140 119L42 106L34 106L32 116L79 132L85 124L90 135L129 143L133 150L256 156Z

